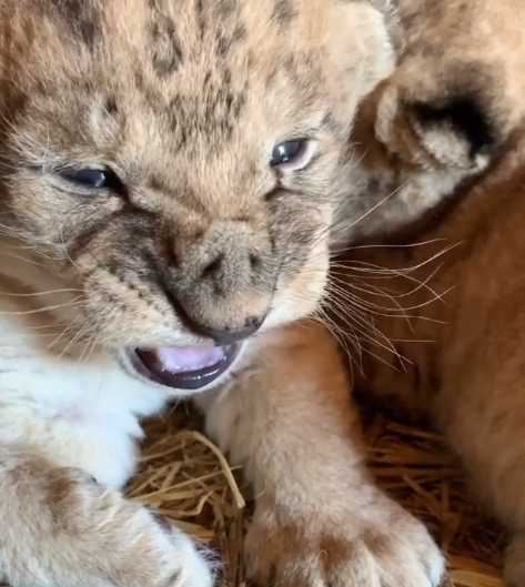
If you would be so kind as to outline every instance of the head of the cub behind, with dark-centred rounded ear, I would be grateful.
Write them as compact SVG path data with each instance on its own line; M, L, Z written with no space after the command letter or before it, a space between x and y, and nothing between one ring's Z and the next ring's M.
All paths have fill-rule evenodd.
M365 222L347 223L354 240L356 233L406 226L441 203L488 165L525 114L522 3L396 0L395 6L405 45L393 75L357 117L354 142L363 166L354 170L351 194L365 196L362 213L391 193L395 198ZM451 118L446 111L454 105ZM463 130L474 130L475 143L457 132L457 120L465 122ZM360 217L355 205L352 200L343 217Z

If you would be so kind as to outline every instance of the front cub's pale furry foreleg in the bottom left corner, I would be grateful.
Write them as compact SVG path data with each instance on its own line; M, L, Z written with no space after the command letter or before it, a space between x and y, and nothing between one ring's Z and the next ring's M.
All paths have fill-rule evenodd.
M43 439L43 444L46 441ZM0 445L0 585L211 587L183 533L80 468Z

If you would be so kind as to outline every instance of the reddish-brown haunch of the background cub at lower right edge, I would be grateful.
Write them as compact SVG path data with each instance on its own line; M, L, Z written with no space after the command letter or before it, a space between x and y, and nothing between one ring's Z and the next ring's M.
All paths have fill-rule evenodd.
M523 325L522 325L523 328ZM515 344L512 326L498 325ZM444 381L437 422L460 454L474 493L511 530L504 578L525 586L525 362L505 352L505 341L486 338L462 357ZM504 358L511 357L511 358Z

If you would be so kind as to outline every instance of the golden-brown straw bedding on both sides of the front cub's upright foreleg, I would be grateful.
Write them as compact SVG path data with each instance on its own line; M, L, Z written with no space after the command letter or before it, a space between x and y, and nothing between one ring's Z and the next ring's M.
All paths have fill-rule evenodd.
M242 561L250 523L242 475L230 468L199 425L182 409L149 422L141 465L127 493L222 554L220 587L250 587ZM504 535L468 498L460 467L440 436L383 416L371 418L365 431L378 484L424 519L446 551L446 587L503 587Z

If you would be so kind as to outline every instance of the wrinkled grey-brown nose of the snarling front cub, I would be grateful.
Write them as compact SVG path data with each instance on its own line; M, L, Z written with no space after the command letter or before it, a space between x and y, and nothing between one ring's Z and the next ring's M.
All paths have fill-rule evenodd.
M277 276L267 233L243 222L214 223L179 240L174 251L170 293L190 330L228 345L261 327Z

